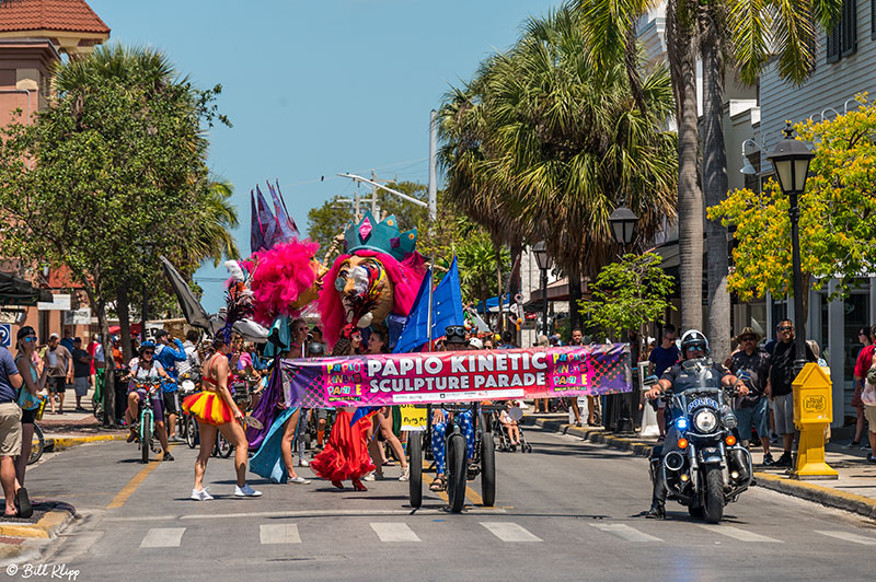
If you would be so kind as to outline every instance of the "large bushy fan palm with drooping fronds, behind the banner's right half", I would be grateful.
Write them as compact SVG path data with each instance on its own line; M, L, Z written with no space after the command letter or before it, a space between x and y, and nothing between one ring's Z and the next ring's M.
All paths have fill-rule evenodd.
M587 53L572 10L530 20L441 109L453 138L442 150L448 194L479 222L497 212L488 229L505 221L545 240L569 277L573 325L581 276L616 256L612 210L626 203L639 216L637 244L676 214L675 138L659 130L671 114L667 71L642 79L637 104L624 59L598 75Z

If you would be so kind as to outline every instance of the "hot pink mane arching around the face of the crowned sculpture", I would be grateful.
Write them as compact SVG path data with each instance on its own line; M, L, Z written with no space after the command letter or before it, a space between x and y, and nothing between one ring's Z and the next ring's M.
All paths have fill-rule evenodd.
M392 281L395 289L392 312L397 315L406 316L411 313L411 307L414 306L414 300L417 298L419 284L423 282L425 275L425 261L419 253L408 254L404 260L399 261L392 255L384 253L377 253L374 251L357 251L355 253L360 257L374 257L383 264L387 269L387 276ZM322 319L322 330L325 341L333 346L346 322L344 321L344 305L341 303L341 298L335 290L335 279L337 272L341 270L341 264L353 255L341 255L335 259L332 269L325 275L325 284L320 291L320 315Z

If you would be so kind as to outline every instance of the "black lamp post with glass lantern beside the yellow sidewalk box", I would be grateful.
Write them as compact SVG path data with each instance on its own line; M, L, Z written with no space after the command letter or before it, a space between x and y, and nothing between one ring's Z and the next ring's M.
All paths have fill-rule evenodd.
M766 159L773 164L779 176L782 193L788 197L791 208L791 254L794 269L794 327L796 328L797 359L794 361L794 371L799 373L806 365L806 316L803 313L803 273L800 269L800 210L797 205L798 197L806 189L806 178L809 174L809 162L815 154L803 141L794 139L791 124L785 128L785 139L780 141Z

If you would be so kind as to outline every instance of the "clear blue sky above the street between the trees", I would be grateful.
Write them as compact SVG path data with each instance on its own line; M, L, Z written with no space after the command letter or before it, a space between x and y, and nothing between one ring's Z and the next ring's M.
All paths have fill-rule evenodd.
M211 130L209 163L234 184L246 254L249 193L266 179L302 233L309 209L353 191L337 172L425 184L429 110L561 0L88 2L112 40L163 50L200 88L222 84L234 127ZM210 311L224 275L195 277Z

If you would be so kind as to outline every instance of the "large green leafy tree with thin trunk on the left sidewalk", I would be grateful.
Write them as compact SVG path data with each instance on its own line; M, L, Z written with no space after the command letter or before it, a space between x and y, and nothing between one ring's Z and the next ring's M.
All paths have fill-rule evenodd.
M130 281L161 277L155 255L189 243L208 184L204 126L219 88L170 79L162 62L150 49L111 46L60 63L55 98L33 125L4 128L0 146L2 252L66 265L107 353L107 304Z

